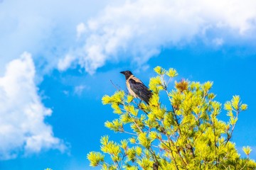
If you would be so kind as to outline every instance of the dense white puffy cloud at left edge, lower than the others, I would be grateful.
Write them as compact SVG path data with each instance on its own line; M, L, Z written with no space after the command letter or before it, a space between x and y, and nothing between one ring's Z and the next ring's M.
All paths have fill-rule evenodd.
M4 77L0 77L0 159L42 149L65 149L44 122L52 111L41 103L33 80L35 73L31 55L24 52L7 64Z

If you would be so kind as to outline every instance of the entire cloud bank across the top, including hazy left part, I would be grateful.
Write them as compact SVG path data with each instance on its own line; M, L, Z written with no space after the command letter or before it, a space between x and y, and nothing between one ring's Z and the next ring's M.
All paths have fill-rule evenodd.
M141 68L164 47L195 37L208 45L216 38L226 45L230 35L256 39L254 0L14 0L0 8L0 76L24 50L43 69L38 74L77 64L93 74L106 62L131 60Z

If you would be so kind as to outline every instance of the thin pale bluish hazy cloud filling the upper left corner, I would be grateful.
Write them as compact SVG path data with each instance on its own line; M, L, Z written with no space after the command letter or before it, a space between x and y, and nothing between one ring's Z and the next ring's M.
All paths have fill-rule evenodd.
M48 73L73 45L75 27L117 0L13 0L0 4L0 76L24 50ZM10 50L11 49L11 50ZM42 70L38 70L40 74Z

